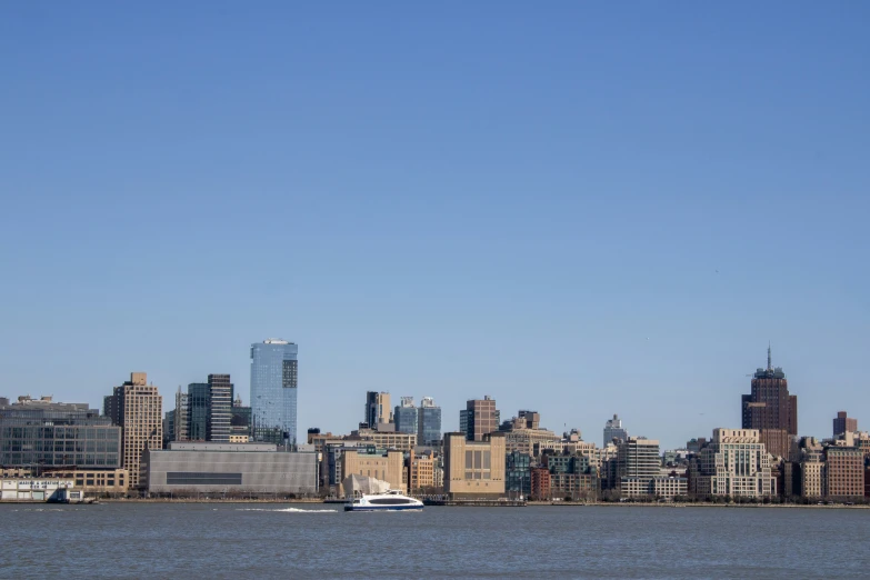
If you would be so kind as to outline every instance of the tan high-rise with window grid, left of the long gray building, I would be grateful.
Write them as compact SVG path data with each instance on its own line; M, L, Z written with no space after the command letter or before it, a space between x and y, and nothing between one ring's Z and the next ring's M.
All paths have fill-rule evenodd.
M163 439L163 398L144 372L130 373L130 380L112 390L106 409L122 428L122 467L130 473L130 488L139 486L139 467L144 449L161 449ZM111 399L111 400L109 400Z

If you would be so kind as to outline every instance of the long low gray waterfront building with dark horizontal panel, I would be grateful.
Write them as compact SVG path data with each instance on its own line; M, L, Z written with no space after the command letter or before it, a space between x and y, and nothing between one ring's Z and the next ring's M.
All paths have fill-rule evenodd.
M276 446L267 446L267 450L262 444L250 443L174 447L143 452L140 488L149 493L184 490L314 494L318 491L316 453L277 451Z

